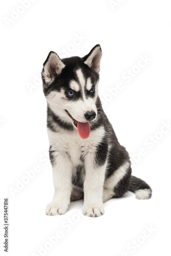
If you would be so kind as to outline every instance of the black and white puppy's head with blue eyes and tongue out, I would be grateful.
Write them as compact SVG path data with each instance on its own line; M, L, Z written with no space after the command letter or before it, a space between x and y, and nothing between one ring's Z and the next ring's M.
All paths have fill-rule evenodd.
M41 72L44 94L51 110L62 120L72 123L82 138L90 134L89 123L97 117L101 56L99 45L82 58L60 59L55 52L50 52Z

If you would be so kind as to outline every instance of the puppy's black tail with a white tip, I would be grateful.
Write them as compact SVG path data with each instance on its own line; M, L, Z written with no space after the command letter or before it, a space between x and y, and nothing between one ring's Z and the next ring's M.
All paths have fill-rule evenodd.
M135 193L137 199L149 199L152 197L151 187L143 180L131 176L129 190Z

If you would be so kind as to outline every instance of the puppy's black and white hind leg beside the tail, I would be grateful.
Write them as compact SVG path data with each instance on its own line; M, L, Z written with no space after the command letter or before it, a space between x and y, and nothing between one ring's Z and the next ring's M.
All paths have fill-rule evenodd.
M103 186L103 203L113 197L123 196L129 189L130 178L131 166L130 162L126 162L105 180Z

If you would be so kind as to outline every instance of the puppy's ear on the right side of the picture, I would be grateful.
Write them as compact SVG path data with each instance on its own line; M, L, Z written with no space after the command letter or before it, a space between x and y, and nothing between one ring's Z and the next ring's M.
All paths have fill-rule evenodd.
M99 73L101 56L101 47L100 45L96 45L95 47L93 47L90 53L84 56L82 59L84 63L87 64L91 69Z

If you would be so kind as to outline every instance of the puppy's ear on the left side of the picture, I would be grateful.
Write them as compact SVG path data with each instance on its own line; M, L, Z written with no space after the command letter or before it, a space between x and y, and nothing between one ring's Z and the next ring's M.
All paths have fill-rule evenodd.
M44 68L41 72L42 79L45 80L47 84L53 82L56 76L58 76L65 64L59 58L55 52L50 52L47 59L44 62Z

